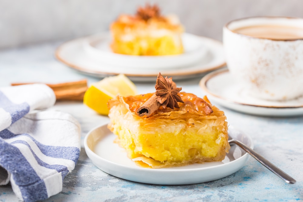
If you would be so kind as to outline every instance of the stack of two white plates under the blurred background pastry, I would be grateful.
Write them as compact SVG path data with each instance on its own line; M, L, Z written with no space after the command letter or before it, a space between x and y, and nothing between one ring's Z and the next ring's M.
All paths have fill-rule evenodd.
M182 35L182 41L185 51L179 55L122 55L112 52L110 34L102 33L65 42L56 50L56 57L84 74L125 74L133 81L154 81L159 72L174 80L198 77L225 65L220 41L188 33Z

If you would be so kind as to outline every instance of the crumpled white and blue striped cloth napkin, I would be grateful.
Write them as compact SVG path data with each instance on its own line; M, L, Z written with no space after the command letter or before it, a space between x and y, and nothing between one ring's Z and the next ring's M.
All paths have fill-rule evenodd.
M78 121L59 111L42 111L55 101L45 84L0 88L0 185L10 181L23 201L58 194L79 158Z

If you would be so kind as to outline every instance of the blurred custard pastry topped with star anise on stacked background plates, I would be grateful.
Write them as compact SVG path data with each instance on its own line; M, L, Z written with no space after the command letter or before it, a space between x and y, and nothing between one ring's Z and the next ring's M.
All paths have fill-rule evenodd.
M157 5L139 7L112 23L112 51L126 55L175 55L183 52L183 26L175 15L162 16Z

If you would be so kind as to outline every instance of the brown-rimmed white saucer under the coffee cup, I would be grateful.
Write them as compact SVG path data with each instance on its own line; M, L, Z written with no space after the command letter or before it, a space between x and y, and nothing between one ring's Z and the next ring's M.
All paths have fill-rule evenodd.
M268 101L253 98L231 77L227 69L205 75L200 87L222 106L248 114L261 116L296 116L303 114L303 97L289 101Z

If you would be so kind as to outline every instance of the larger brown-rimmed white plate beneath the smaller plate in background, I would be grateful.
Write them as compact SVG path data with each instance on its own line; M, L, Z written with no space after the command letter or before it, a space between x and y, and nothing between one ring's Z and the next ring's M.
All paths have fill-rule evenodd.
M222 43L210 38L198 38L200 38L201 44L206 50L202 59L195 65L189 65L185 68L162 68L161 74L163 76L173 77L174 80L195 78L225 65ZM103 61L92 57L92 55L89 55L87 50L85 50L83 44L87 43L87 40L87 37L83 37L63 43L55 52L56 58L65 65L68 65L83 74L99 78L125 74L132 81L155 81L158 73L160 72L158 68L138 69L104 63ZM116 54L116 56L120 57L121 55Z

